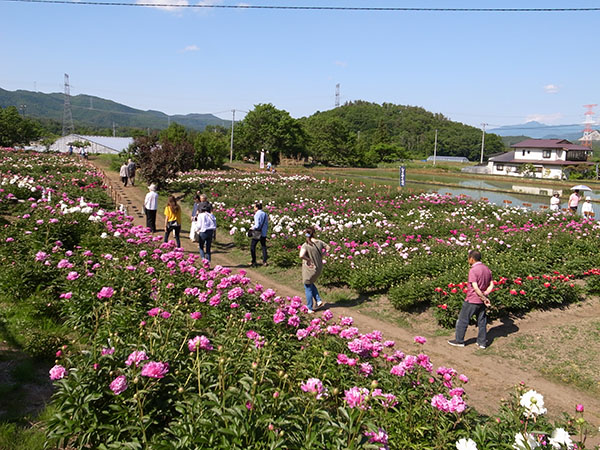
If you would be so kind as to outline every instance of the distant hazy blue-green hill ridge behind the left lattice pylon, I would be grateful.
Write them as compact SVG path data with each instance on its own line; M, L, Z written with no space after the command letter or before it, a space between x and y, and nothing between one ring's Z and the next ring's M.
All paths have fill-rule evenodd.
M7 106L15 106L28 117L62 122L64 95L24 90L7 91L0 88L0 107ZM120 128L164 129L168 127L169 122L177 122L194 130L204 130L207 125L231 125L231 122L212 114L167 116L160 111L142 111L112 100L84 94L71 97L71 111L76 126L98 128L111 128L115 124Z

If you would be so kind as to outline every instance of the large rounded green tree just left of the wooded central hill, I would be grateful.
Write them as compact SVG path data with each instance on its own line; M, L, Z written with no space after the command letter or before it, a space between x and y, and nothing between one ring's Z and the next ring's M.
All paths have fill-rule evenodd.
M258 158L269 152L274 163L279 156L300 158L306 155L305 134L300 123L287 111L272 104L255 105L234 133L236 156Z

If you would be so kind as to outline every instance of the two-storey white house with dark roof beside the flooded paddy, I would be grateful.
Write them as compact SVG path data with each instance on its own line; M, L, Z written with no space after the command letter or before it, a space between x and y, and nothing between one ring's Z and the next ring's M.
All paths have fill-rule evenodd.
M511 147L510 152L489 159L488 173L563 179L573 166L594 165L588 161L591 149L566 139L526 139Z

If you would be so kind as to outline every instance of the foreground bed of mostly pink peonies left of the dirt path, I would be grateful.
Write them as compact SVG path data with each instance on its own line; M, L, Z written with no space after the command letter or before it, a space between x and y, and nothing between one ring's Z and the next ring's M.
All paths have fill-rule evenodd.
M18 154L28 157L41 158ZM533 394L480 416L468 406L467 376L436 368L424 338L399 348L350 317L309 316L302 299L244 271L210 269L60 187L42 186L55 200L11 200L0 230L6 300L43 299L68 330L49 370L49 446L572 448L569 433L585 426L550 423ZM99 185L88 189L103 196Z

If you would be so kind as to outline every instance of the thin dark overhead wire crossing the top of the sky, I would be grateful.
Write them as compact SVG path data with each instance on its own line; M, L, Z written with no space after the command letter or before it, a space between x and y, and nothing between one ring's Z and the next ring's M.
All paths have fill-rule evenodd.
M170 3L124 3L100 1L69 1L69 0L0 0L18 3L46 3L62 5L92 5L92 6L135 6L141 8L209 8L209 9L271 9L271 10L301 10L301 11L396 11L396 12L593 12L596 8L423 8L397 6L281 6L281 5L174 5Z

